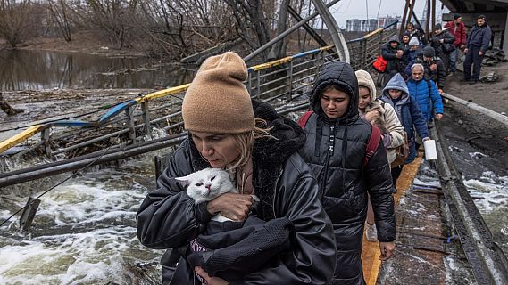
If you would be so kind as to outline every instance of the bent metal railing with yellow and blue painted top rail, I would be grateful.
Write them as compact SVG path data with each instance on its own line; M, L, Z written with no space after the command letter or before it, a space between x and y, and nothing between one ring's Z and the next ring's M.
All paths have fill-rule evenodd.
M395 33L392 30L394 25L396 23L348 42L348 47L352 50L360 46L367 51L365 55L358 51L351 53L355 69L365 68L370 64L367 60L370 54L377 53L379 44ZM331 45L297 53L248 68L245 84L254 98L271 102L279 111L294 109L296 104L290 102L311 90L321 66L329 61L337 61L337 53ZM188 86L189 84L179 85L121 102L100 117L57 120L31 126L20 134L0 142L0 152L33 139L36 134L41 134L40 140L31 143L30 150L39 149L47 155L63 155L64 159L98 151L104 148L104 145L112 143L115 145L111 151L146 144L154 140L153 127L158 127L168 134L179 134L183 131L181 102ZM305 106L301 105L298 108L304 109ZM97 113L96 116L98 115ZM116 138L120 140L111 142ZM87 150L80 151L84 148Z

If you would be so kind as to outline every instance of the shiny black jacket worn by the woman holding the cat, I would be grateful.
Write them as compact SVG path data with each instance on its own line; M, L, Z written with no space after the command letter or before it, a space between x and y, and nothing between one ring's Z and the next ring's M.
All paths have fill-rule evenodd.
M285 216L293 224L292 250L241 284L327 284L335 268L336 251L329 218L321 207L311 169L296 152L304 144L304 132L296 123L280 117L268 104L253 101L256 118L265 118L277 139L258 139L254 146L254 192L261 199L253 212L265 221ZM205 203L194 200L173 177L210 167L190 140L182 142L137 211L137 238L149 248L181 248L196 238L212 215ZM181 262L183 259L180 259ZM162 275L171 264L162 258ZM188 266L187 266L188 267ZM171 275L171 274L170 274ZM174 273L172 284L192 284L192 269ZM164 280L169 283L168 280ZM233 284L234 282L230 282Z

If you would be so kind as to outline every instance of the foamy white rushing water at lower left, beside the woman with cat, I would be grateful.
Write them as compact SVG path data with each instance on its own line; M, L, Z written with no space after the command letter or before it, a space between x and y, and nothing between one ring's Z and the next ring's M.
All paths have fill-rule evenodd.
M17 217L2 227L0 284L159 281L160 268L149 263L162 252L139 243L135 219L140 202L154 188L152 155L97 169L48 192L29 232L18 230ZM26 197L3 191L0 201L4 221L24 206Z

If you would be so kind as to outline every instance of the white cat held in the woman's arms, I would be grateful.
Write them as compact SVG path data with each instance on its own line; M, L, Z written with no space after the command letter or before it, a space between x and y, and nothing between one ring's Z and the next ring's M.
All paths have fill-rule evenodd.
M221 168L204 168L190 175L175 177L182 186L187 186L187 195L200 204L219 197L223 193L237 193L237 188L229 179L229 173ZM212 217L213 221L225 222L231 219L221 213Z

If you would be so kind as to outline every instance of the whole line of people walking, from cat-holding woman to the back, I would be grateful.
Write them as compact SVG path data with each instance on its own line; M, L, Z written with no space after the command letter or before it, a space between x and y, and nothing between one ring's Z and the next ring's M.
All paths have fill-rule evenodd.
M452 33L465 32L454 18ZM382 47L392 73L381 94L368 71L325 64L298 124L251 99L243 84L246 64L236 53L204 61L182 103L188 138L137 211L141 243L167 249L163 283L364 284L363 232L379 241L381 260L393 256L397 178L429 140L432 120L443 118L441 57L449 72L456 62L443 45L476 53L470 57L478 71L476 61L485 53L479 38L488 37L484 20L479 17L465 42L438 26L423 49L418 30L404 34L402 43L391 39ZM403 146L408 153L401 160ZM241 191L196 204L176 178L208 167L227 171ZM216 214L234 229L219 225L228 232L197 247ZM251 227L250 216L261 225ZM267 246L280 237L287 239L284 247ZM209 264L213 271L204 267Z

